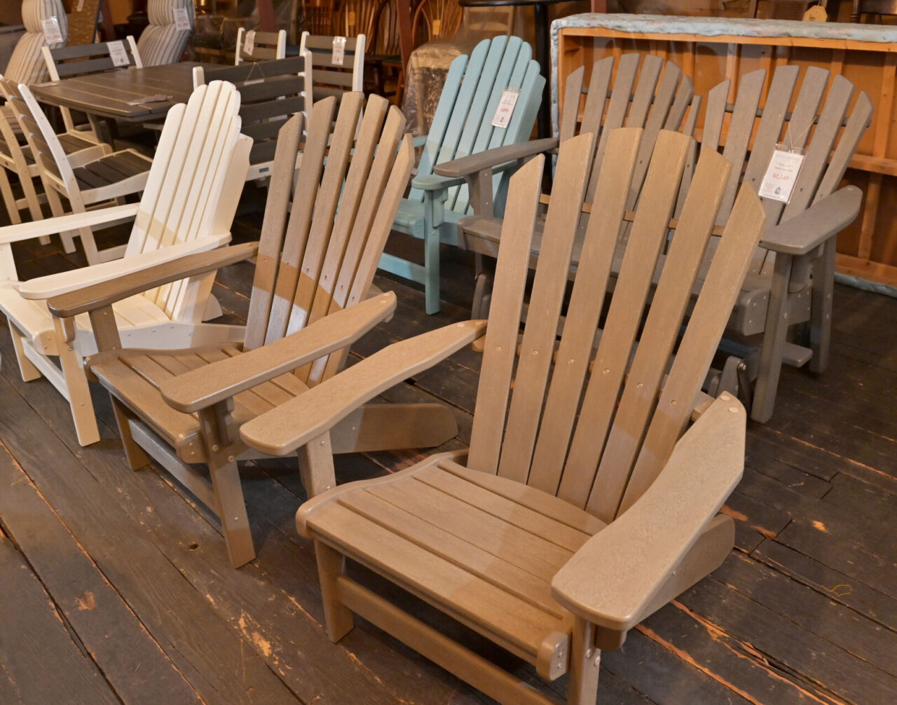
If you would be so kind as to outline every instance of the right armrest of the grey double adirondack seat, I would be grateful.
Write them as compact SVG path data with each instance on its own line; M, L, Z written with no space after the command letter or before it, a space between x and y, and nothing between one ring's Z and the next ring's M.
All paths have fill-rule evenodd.
M767 229L760 245L773 252L806 255L853 222L862 201L863 192L858 187L840 188L803 213Z

